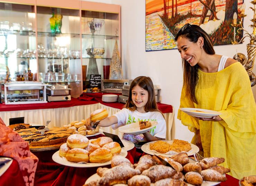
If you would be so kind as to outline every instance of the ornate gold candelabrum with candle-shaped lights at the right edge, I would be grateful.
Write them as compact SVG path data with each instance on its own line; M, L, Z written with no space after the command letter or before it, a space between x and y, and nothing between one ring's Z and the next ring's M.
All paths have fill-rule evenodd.
M234 38L233 38L233 41L231 41L231 43L239 44L239 43L244 42L244 39L246 37L250 38L250 43L248 43L246 45L248 58L247 58L246 63L243 62L243 66L249 75L251 86L254 86L256 84L256 77L255 77L255 74L252 72L252 70L253 70L254 61L255 61L255 57L256 57L256 7L255 7L256 0L251 1L251 3L253 4L253 7L254 7L254 8L250 7L250 9L252 9L254 12L253 19L250 20L253 22L253 24L250 25L250 27L253 28L253 32L249 33L243 27L243 18L246 17L246 15L244 14L245 4L243 4L242 11L238 14L238 16L240 18L240 21L238 24L236 22L236 19L237 19L236 13L234 13L233 23L231 24L231 26L234 27ZM240 41L239 41L239 36L236 35L236 27L238 27L238 26L240 28L237 29L237 33L244 31L244 37L241 38ZM239 61L239 59L236 59L236 60ZM239 61L239 62L241 62L241 61Z

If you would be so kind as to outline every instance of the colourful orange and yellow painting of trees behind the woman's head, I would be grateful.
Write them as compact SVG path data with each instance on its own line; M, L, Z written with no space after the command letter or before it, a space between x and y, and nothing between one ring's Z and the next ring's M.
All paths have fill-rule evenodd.
M243 0L146 0L146 51L176 49L175 35L186 23L200 25L214 45L231 44L230 24L242 4Z

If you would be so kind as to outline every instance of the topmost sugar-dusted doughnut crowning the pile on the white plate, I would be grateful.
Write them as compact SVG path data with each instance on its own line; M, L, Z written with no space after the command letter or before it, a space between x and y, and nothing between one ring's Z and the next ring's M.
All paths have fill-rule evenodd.
M85 148L88 144L88 138L81 134L72 134L67 138L67 146L70 148Z

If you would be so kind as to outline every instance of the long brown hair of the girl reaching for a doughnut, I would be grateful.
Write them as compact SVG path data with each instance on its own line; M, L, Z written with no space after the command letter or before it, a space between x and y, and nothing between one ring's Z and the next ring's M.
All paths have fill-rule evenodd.
M146 112L160 112L162 115L163 113L161 111L158 110L157 108L157 104L156 104L156 98L155 98L155 91L154 91L154 85L152 80L150 79L150 77L146 77L146 76L139 76L136 77L130 85L130 89L129 89L129 97L128 100L126 102L125 107L131 111L135 111L136 110L136 105L134 104L134 102L131 99L132 96L132 89L138 85L141 89L144 89L148 92L148 102L145 105L144 110ZM164 117L164 115L163 115Z

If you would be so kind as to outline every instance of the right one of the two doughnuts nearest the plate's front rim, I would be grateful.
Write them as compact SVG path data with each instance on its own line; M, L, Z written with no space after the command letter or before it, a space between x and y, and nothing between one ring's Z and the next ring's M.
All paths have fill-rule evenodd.
M91 163L103 163L110 161L113 155L108 148L98 148L89 155Z

